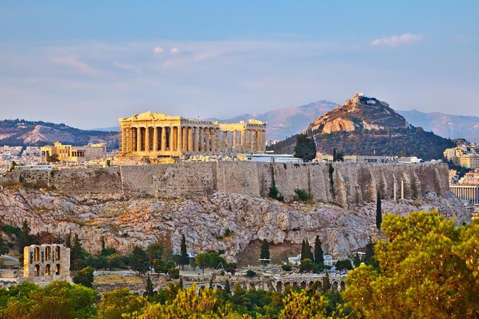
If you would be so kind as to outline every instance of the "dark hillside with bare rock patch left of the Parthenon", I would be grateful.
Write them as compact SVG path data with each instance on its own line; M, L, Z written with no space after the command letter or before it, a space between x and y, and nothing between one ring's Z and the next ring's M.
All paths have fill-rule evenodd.
M43 146L53 142L71 145L106 143L108 149L118 148L118 132L86 131L42 121L0 121L0 145Z

